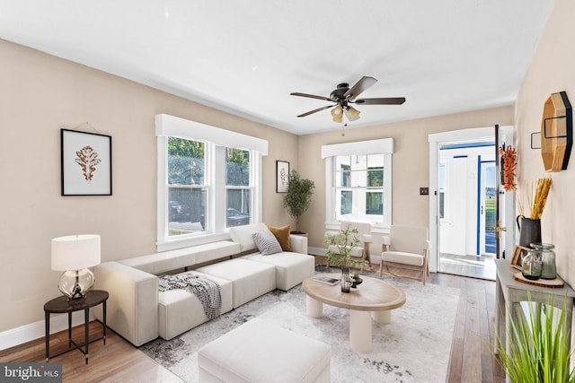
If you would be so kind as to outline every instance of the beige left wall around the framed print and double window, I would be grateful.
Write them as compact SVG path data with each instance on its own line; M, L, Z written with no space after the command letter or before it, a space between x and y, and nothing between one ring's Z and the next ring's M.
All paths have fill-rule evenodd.
M42 320L59 294L50 239L101 234L102 261L155 251L158 113L269 140L263 219L289 220L275 166L296 169L296 135L4 40L0 57L0 332ZM113 196L60 196L60 128L112 136Z

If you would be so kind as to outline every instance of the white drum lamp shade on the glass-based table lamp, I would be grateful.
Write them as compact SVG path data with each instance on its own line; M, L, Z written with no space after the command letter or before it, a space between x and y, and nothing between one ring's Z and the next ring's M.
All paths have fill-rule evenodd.
M99 235L70 235L52 239L52 270L81 270L99 264Z

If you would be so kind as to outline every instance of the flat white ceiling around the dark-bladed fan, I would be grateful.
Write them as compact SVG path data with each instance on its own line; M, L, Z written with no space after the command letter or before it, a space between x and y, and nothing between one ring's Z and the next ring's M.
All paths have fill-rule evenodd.
M510 105L553 0L0 0L0 39L297 135L341 128L329 96L363 75L349 127Z

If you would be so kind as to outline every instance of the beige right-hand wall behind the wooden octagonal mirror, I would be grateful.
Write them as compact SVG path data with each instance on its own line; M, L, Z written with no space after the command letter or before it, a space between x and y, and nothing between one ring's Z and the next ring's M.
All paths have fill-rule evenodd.
M569 231L575 213L575 159L567 170L545 173L541 152L530 149L532 132L541 128L545 100L553 92L566 91L575 104L575 2L557 0L544 33L539 41L531 65L517 94L516 129L518 153L517 197L524 196L524 183L551 176L553 186L542 217L544 242L553 243L559 274L571 285L575 283L575 236Z

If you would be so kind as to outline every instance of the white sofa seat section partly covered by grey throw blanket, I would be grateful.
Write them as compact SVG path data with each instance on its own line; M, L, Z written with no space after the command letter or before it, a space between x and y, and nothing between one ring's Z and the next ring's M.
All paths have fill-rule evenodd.
M219 284L222 298L220 314L232 310L232 283L217 276L206 275ZM174 336L185 333L195 326L208 321L204 308L198 297L185 290L168 290L158 293L158 322L160 336L164 339L172 339Z

